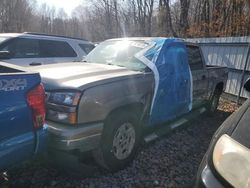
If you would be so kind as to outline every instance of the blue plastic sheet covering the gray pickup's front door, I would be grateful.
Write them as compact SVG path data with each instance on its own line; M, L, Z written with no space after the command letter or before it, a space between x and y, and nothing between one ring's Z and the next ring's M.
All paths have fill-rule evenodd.
M192 108L192 79L183 43L165 44L155 62L159 80L150 123L157 124L181 116Z

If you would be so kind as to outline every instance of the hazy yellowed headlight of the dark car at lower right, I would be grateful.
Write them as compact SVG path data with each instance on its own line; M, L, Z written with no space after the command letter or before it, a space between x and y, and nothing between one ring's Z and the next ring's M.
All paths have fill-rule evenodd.
M213 151L217 172L234 187L250 187L250 150L224 134Z

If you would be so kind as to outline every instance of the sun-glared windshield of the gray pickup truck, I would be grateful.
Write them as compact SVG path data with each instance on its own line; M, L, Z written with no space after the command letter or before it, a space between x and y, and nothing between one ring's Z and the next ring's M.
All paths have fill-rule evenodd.
M100 63L126 67L130 70L143 71L146 65L135 55L146 48L148 43L136 40L114 40L99 44L85 58L88 63Z

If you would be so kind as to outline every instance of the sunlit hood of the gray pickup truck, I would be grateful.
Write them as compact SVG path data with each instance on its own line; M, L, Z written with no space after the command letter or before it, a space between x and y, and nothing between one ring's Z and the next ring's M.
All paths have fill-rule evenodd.
M141 75L124 67L95 63L63 63L29 67L38 71L46 90L84 90L97 84Z

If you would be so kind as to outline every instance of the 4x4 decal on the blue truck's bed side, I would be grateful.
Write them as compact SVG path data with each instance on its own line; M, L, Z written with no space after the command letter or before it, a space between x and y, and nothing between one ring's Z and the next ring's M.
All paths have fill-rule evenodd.
M0 91L20 91L27 87L26 79L1 79Z

